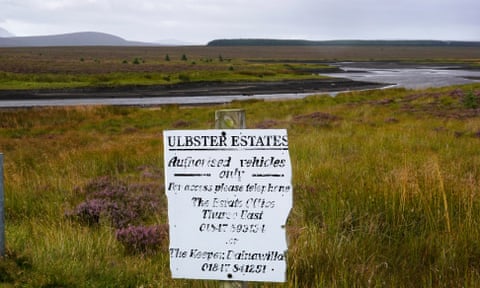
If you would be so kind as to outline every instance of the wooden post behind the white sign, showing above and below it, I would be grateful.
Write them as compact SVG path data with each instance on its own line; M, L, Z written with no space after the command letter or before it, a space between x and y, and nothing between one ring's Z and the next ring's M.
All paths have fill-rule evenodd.
M245 110L243 109L224 109L215 111L216 129L245 129ZM223 282L222 288L247 288L247 282Z

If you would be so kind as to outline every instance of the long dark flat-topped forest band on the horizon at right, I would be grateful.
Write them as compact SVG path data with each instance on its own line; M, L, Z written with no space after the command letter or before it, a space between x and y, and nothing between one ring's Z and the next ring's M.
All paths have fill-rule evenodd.
M282 40L282 39L218 39L207 46L473 46L480 42L437 40Z

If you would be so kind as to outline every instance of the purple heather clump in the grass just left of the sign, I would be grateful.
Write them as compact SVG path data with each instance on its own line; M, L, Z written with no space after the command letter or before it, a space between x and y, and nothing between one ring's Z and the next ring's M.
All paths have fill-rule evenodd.
M166 214L162 186L126 184L100 177L76 192L85 200L67 211L66 216L86 226L105 222L115 228L115 237L127 253L154 253L168 247L168 224L144 226L156 222L153 215Z

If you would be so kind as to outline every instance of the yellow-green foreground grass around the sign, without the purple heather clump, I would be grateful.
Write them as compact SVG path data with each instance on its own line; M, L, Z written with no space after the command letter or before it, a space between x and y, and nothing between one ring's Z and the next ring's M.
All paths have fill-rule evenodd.
M164 249L133 253L108 218L86 225L68 211L98 179L164 197L162 131L212 128L215 110L242 107L249 128L288 129L294 185L288 283L250 287L476 287L479 97L472 84L221 107L1 110L0 285L219 287L170 279ZM164 200L139 224L166 224Z

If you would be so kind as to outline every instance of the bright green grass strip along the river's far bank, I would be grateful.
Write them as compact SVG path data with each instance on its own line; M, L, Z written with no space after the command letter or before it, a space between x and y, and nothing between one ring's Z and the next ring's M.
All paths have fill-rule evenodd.
M185 57L185 58L183 58ZM184 60L185 59L185 60ZM182 62L187 61L182 56ZM170 60L168 60L170 62ZM189 64L171 61L169 67L165 65L163 71L124 71L108 73L14 73L0 71L0 90L17 89L42 89L42 88L78 88L78 87L118 87L125 85L165 85L181 82L210 82L210 81L279 81L287 79L320 79L323 76L314 75L296 64L289 65L265 63L250 64L244 62L231 63L230 65L217 63L197 64L192 61ZM146 61L135 57L131 65L146 65ZM122 61L123 66L129 66L128 60ZM101 65L101 64L99 64ZM210 67L209 67L210 66ZM235 67L235 69L233 69ZM328 68L328 66L323 65ZM0 68L1 69L1 68ZM169 79L166 81L165 79Z

